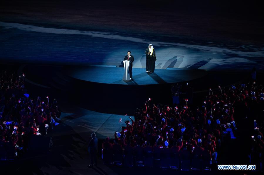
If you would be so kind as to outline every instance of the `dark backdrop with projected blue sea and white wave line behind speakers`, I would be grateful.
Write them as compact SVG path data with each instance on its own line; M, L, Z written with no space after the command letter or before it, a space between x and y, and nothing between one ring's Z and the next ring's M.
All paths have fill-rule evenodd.
M156 69L263 70L263 17L257 1L2 1L0 59Z

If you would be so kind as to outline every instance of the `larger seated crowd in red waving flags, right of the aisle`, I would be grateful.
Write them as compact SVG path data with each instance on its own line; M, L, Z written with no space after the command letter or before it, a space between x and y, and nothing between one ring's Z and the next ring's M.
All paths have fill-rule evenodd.
M134 120L102 144L105 164L181 169L210 169L221 143L237 140L235 119L254 119L250 162L263 160L263 86L255 82L209 89L201 104L153 104L136 109ZM251 119L251 120L250 120ZM239 129L239 127L238 127Z

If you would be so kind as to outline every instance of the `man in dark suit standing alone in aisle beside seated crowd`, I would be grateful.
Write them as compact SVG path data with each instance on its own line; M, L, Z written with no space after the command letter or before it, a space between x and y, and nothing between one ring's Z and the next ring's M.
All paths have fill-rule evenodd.
M88 165L87 167L93 167L93 165L97 166L96 153L97 153L97 148L98 148L98 139L95 137L94 132L91 134L91 137L92 138L88 144L88 151L91 157L91 164Z

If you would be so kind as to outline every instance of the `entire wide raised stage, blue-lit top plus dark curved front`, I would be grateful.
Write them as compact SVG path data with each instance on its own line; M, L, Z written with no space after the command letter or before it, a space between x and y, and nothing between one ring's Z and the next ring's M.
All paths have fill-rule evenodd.
M171 88L176 82L182 86L181 100L184 100L192 98L188 95L191 92L207 93L209 88L219 85L236 85L247 75L246 72L231 74L186 69L157 69L148 74L144 68L133 68L134 80L123 81L123 67L23 65L18 72L26 74L26 82L45 91L49 89L56 98L60 94L61 98L71 100L81 108L120 115L133 115L148 98L152 98L155 104L171 105ZM186 82L189 82L188 87ZM43 96L46 95L49 94Z

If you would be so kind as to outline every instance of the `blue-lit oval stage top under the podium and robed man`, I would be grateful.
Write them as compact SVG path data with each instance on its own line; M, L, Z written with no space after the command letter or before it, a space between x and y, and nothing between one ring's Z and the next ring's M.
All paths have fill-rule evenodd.
M88 82L124 85L167 84L191 81L208 74L205 70L188 69L156 69L154 73L147 73L145 68L132 68L132 81L122 80L124 67L86 66L67 67L66 74L75 79Z

